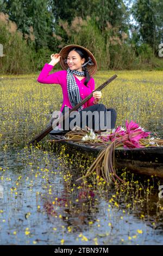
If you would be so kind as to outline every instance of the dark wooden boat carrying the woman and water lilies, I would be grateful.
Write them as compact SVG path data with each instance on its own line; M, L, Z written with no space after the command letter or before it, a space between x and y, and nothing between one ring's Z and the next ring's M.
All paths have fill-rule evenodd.
M51 139L60 141L65 139L64 133L51 132ZM78 150L81 153L89 153L97 156L102 147L78 144L70 141L60 141L58 143L68 145L70 150ZM163 178L163 147L147 147L140 149L115 149L116 168L125 168L139 174L156 175Z

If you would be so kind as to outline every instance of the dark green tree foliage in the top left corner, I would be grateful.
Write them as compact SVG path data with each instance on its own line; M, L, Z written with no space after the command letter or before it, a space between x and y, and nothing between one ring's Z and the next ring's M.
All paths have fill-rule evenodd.
M28 44L34 41L36 51L47 47L53 22L53 15L48 10L48 0L3 0L0 11L16 22L18 30L28 39Z

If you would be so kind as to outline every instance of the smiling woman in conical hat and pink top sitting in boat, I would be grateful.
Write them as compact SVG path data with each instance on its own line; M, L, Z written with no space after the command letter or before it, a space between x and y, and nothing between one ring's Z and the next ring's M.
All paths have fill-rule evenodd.
M64 70L49 75L49 72L58 62L60 62L60 65ZM79 45L67 45L62 48L60 53L51 55L51 62L45 64L37 81L40 83L56 83L61 85L63 102L60 111L65 113L67 109L76 106L80 101L85 99L87 95L95 90L95 80L92 76L95 75L96 71L97 62L89 50ZM76 120L78 120L76 124L78 124L78 126L84 129L84 124L84 126L86 125L93 130L104 130L101 125L101 120L104 120L106 129L106 116L108 116L107 113L110 112L111 125L109 128L113 129L115 127L116 111L112 108L106 109L103 104L99 104L101 97L101 92L93 92L91 99L78 108L76 114ZM95 115L91 115L91 113L95 112L98 114L96 115L96 118ZM86 115L84 115L85 113ZM73 127L71 123L73 119L74 117L69 118L68 123L70 126L68 126L68 129L67 126L65 129L64 122L64 130L72 130Z

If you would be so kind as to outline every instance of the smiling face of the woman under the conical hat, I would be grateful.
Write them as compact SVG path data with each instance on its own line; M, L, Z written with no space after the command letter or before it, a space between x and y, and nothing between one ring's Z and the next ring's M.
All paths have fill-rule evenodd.
M82 71L82 64L84 64L84 62L85 58L82 59L76 51L68 53L67 64L70 70Z

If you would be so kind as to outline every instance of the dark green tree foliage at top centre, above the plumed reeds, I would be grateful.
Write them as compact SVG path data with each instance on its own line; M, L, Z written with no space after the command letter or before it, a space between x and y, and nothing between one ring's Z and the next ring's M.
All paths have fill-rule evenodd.
M123 30L128 27L129 14L123 0L52 0L51 5L57 24L60 19L70 25L76 16L82 19L90 16L98 19L97 26L101 31L104 31L106 22Z

